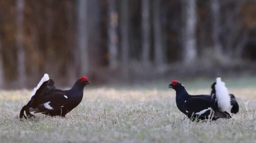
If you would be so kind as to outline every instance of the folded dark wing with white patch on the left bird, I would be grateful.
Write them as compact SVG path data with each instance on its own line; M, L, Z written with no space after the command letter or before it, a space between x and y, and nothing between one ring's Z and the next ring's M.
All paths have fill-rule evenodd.
M59 110L68 103L68 97L63 93L55 93L54 95L44 97L42 100L44 101L42 104L31 108L30 111L38 113Z

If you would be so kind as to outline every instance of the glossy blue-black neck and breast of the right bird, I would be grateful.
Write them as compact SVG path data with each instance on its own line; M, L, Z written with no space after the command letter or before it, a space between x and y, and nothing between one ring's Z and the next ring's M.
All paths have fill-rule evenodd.
M188 98L188 93L184 86L180 86L180 87L176 88L175 91L176 91L177 107L180 109L180 111L183 112L184 111L183 105Z

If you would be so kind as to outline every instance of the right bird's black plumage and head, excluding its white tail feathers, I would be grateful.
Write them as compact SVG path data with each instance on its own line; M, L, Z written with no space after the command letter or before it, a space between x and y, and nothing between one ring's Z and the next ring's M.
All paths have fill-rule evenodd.
M169 88L173 88L176 91L176 104L179 110L191 120L229 119L231 115L218 107L215 85L216 83L212 85L211 95L190 95L187 93L185 87L178 81L173 81L169 85ZM231 113L238 112L239 106L234 95L230 95L230 106L232 106Z

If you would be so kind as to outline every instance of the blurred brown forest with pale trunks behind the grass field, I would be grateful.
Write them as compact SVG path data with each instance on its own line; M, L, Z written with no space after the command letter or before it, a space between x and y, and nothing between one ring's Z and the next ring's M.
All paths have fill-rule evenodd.
M255 75L255 0L0 0L0 86Z

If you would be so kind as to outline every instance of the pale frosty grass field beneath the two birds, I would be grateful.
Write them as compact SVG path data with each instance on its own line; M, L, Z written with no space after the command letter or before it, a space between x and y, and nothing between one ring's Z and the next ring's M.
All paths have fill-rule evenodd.
M210 92L210 84L206 89L191 85L187 83L190 94ZM18 114L30 91L0 91L0 142L256 142L253 86L229 87L240 104L240 112L232 119L199 123L178 110L175 92L167 86L85 88L81 104L65 118L36 114L25 121Z

